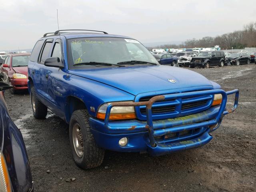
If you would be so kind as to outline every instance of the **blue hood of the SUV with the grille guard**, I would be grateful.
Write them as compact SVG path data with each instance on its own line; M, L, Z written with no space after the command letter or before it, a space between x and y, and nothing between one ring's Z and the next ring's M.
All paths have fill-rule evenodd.
M68 73L108 84L133 95L195 86L210 86L212 88L211 82L201 74L164 65L93 68L90 70L72 69ZM173 79L176 82L171 83L168 79Z

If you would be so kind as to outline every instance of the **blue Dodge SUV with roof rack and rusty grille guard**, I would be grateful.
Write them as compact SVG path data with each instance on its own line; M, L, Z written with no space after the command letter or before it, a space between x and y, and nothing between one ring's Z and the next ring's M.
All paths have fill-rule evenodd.
M69 124L81 168L99 166L104 150L159 156L203 146L237 108L238 90L225 92L196 72L160 65L133 38L64 31L72 30L36 42L28 86L35 118L49 109ZM230 94L234 107L227 110Z

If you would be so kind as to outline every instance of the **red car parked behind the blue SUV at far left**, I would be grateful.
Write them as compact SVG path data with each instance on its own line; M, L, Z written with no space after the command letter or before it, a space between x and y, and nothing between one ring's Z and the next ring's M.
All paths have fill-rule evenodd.
M30 53L10 54L4 59L1 70L8 76L12 94L17 90L28 89L28 60Z

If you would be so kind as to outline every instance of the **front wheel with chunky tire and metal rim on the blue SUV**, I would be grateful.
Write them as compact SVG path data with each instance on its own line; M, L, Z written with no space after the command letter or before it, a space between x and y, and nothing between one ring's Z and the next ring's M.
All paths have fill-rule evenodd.
M76 164L90 169L102 164L105 150L98 147L89 126L87 110L73 112L69 123L69 140Z

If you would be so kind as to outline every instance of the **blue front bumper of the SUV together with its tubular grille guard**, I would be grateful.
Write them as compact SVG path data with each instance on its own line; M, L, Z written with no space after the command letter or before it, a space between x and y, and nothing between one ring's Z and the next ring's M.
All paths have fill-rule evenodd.
M213 106L206 111L188 116L152 120L151 106L156 101L212 94L222 94L222 103L219 106ZM236 94L234 107L231 110L225 110L227 96L230 94ZM210 142L212 140L210 132L220 126L222 117L236 110L238 96L238 90L228 92L224 90L206 90L155 96L148 102L117 102L108 106L104 121L90 118L90 127L96 143L102 148L120 152L148 152L152 156L159 156L179 150L200 147ZM114 106L142 105L147 107L147 121L108 120L110 110ZM123 137L128 138L128 144L121 147L118 141Z

